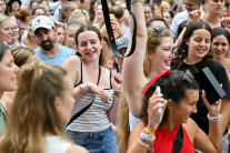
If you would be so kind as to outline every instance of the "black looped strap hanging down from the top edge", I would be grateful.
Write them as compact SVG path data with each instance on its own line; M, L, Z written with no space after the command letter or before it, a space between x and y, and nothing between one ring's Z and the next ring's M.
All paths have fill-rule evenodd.
M107 27L107 32L108 32L108 35L109 35L109 41L110 41L110 44L111 44L111 48L112 48L112 52L119 57L119 58L127 58L127 57L130 57L133 52L134 52L134 49L136 49L136 35L137 35L137 20L136 20L136 17L133 14L133 12L131 11L131 4L130 4L130 0L127 0L127 9L129 11L129 13L132 16L132 19L133 19L133 34L132 34L132 44L131 44L131 50L129 52L128 55L122 55L119 51L118 51L118 48L116 45L116 40L114 40L114 35L113 35L113 32L112 32L112 27L111 27L111 22L110 22L110 17L109 17L109 9L108 9L108 3L107 3L107 0L101 0L101 4L102 4L102 10L103 10L103 18L104 18L104 22L106 22L106 27Z

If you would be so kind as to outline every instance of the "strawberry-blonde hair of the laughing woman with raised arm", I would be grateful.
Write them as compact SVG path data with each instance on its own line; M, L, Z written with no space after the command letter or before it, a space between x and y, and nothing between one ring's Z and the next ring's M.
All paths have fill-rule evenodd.
M148 40L146 54L143 60L143 73L148 78L151 71L151 58L150 53L156 52L157 47L161 43L161 39L164 37L172 37L171 32L164 28L163 31L158 32L154 29L148 29Z

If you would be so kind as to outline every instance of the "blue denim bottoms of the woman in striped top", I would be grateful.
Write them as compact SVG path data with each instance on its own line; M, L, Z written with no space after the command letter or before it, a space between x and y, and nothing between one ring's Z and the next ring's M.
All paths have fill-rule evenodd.
M83 146L90 153L118 153L117 139L111 126L94 133L70 130L66 130L66 133L78 145Z

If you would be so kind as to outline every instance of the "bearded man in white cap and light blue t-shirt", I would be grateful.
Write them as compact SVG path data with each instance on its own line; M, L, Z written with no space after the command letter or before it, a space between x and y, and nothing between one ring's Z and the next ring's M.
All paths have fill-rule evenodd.
M32 21L32 31L39 48L34 52L39 61L48 61L62 65L63 61L76 51L58 44L54 23L52 19L46 16L39 16Z

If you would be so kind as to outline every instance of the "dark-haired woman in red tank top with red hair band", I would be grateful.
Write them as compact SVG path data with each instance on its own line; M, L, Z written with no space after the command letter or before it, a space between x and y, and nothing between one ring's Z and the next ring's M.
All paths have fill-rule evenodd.
M161 92L156 90L159 86ZM190 72L161 71L142 93L142 122L136 124L130 135L128 152L171 153L180 124L183 134L180 153L194 153L194 147L208 153L221 151L222 139L218 122L221 101L210 105L206 93L202 94L210 115L208 136L190 119L192 113L197 113L196 105L199 99L198 83Z

